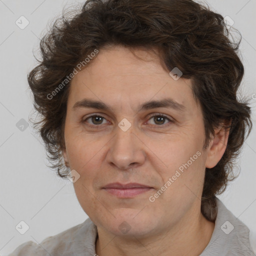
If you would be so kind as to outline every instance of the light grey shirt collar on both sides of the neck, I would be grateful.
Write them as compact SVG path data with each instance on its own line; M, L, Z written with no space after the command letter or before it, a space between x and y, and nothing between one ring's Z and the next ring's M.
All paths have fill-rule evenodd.
M239 252L241 255L247 252L246 255L254 256L250 249L247 226L236 218L217 197L215 198L217 205L215 227L209 243L199 256L237 255ZM75 243L72 243L74 254L84 256L84 251L88 252L88 255L96 254L97 227L90 218L82 223L77 234ZM77 251L77 248L82 249Z

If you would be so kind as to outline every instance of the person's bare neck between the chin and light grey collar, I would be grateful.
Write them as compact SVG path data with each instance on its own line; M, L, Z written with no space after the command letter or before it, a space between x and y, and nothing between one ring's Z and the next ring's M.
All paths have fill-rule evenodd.
M200 212L196 219L186 218L164 232L146 238L116 236L98 228L96 254L98 256L176 256L199 255L210 241L214 222Z

